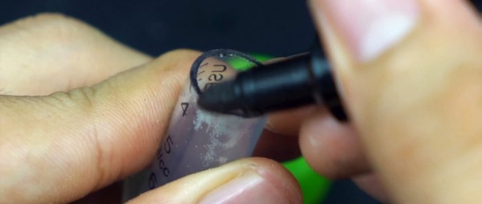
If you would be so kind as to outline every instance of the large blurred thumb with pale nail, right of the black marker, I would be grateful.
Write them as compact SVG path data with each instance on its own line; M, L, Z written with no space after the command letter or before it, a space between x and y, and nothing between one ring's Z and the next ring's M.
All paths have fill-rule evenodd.
M395 203L479 202L470 194L482 187L476 12L457 0L313 0L311 9Z

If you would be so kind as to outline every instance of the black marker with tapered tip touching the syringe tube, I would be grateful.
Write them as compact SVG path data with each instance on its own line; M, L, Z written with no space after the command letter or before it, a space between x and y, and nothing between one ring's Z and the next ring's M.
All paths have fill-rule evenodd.
M240 72L233 81L207 89L198 99L206 110L244 117L312 103L325 105L333 116L346 121L321 48Z

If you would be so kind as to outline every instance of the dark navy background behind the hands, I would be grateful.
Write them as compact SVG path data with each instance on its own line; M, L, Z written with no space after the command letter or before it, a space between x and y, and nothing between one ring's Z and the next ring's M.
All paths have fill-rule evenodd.
M480 10L482 1L472 2ZM280 57L307 50L315 39L300 0L0 0L0 24L39 12L76 17L152 56L176 48L230 48ZM333 184L324 203L377 201L345 180Z

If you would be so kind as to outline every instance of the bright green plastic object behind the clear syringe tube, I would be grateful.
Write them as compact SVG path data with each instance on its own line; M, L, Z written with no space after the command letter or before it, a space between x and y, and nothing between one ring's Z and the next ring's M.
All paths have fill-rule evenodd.
M257 59L258 61L266 61L272 59L265 54L250 54L251 57ZM249 63L242 59L231 59L229 64L233 66L236 70L245 71L249 70L251 67ZM306 163L303 157L299 157L292 161L287 161L283 163L284 167L288 169L293 176L295 176L298 183L300 183L303 199L305 204L319 204L324 201L328 190L330 190L331 181L319 176L311 167Z

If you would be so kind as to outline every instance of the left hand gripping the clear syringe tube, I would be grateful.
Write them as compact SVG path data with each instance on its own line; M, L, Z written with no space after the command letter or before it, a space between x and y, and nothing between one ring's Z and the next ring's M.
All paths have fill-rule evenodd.
M56 14L2 26L0 203L67 203L141 170L154 160L198 55L178 50L151 59ZM296 203L301 196L278 163L243 159L130 202L222 199Z

